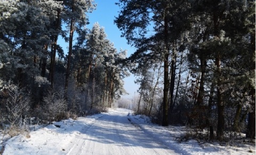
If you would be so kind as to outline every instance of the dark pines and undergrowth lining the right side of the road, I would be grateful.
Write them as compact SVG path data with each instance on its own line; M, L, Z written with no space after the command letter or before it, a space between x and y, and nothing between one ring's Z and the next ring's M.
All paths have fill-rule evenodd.
M115 23L137 50L135 111L163 126L255 139L255 1L119 0Z

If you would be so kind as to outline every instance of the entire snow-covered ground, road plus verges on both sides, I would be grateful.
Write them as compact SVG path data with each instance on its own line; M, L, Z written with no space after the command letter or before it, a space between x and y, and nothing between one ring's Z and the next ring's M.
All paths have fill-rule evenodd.
M30 132L30 137L14 136L3 154L255 154L255 144L249 143L178 142L186 131L184 126L151 124L128 109L109 109L53 122Z

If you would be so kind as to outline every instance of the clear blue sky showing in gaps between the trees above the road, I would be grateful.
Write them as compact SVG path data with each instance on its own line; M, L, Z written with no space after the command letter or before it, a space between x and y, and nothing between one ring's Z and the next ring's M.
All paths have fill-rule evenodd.
M115 16L118 16L119 6L115 5L118 0L94 0L97 4L96 10L92 13L88 13L90 24L87 25L87 28L91 29L95 22L100 24L100 27L105 28L105 33L107 34L107 39L111 42L114 42L115 48L119 51L120 49L127 50L127 56L130 56L134 53L135 48L127 45L127 40L121 37L122 32L119 31L117 26L114 24ZM60 38L59 44L61 44L63 40ZM64 44L64 43L63 43ZM66 43L68 46L68 44ZM66 47L67 47L66 46ZM63 47L65 51L67 48ZM128 96L123 96L124 98L132 98L134 96L134 92L137 93L139 88L138 84L134 83L135 77L131 74L131 76L126 77L124 79L124 88L130 94Z

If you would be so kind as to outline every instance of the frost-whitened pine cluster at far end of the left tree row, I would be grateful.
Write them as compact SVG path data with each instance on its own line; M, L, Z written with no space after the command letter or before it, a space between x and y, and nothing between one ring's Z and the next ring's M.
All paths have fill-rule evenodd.
M111 106L124 93L122 79L127 73L120 62L126 57L125 50L118 53L104 28L94 23L91 30L79 32L74 54L74 74L79 87L85 88L90 108Z

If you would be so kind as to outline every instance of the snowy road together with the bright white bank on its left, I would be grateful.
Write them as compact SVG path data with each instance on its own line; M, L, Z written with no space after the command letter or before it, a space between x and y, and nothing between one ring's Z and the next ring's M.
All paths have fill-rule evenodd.
M132 124L128 114L117 109L55 122L31 132L29 139L13 137L3 154L177 154Z

